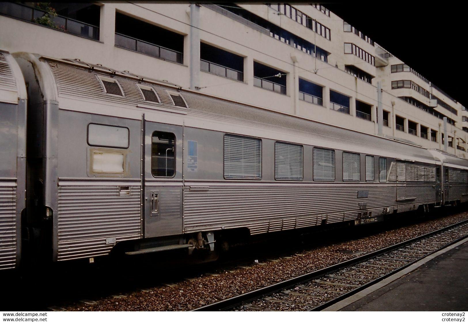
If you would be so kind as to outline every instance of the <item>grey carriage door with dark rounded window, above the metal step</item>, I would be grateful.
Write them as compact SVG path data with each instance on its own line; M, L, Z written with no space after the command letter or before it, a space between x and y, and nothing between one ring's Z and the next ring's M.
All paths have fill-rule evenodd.
M145 122L145 238L182 233L182 127Z

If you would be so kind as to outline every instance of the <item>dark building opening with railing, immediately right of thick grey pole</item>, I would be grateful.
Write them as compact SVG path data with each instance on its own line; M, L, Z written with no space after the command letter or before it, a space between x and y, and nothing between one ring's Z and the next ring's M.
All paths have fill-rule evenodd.
M243 81L244 58L206 43L200 43L200 70Z

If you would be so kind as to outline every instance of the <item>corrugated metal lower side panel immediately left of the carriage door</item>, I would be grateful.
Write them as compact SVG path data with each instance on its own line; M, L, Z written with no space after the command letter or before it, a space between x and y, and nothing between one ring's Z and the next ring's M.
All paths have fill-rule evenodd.
M116 242L140 238L140 186L59 186L58 260L109 254Z

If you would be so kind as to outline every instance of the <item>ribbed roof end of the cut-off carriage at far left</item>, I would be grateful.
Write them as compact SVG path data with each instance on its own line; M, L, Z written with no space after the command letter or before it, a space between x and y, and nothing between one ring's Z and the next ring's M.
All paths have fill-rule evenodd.
M0 49L0 101L17 104L18 99L26 98L26 86L21 70L10 53Z

